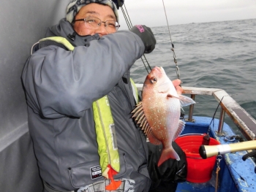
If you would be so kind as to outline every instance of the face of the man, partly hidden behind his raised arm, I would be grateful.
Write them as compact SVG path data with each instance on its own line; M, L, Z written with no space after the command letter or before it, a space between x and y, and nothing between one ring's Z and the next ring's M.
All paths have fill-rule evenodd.
M84 7L82 7L78 14L75 16L75 20L77 19L83 19L87 17L94 17L99 18L102 20L102 22L105 22L106 20L115 20L116 21L116 15L113 12L113 9L111 9L108 5L102 5L102 4L88 4ZM94 35L99 34L99 37L102 37L106 34L114 33L116 31L106 31L105 23L102 23L101 26L97 29L91 29L86 27L86 24L83 20L81 21L75 21L75 24L73 26L74 30L80 35L80 36L86 36L86 35Z

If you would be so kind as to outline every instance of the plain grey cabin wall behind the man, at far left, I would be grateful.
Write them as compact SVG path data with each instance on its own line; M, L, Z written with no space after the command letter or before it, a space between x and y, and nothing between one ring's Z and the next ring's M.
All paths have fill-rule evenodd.
M69 0L0 3L0 191L42 191L20 76L31 45L64 18Z

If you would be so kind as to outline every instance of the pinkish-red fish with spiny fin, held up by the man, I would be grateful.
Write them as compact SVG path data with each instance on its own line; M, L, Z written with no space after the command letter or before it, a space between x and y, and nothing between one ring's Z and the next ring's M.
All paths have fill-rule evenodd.
M154 145L162 143L157 166L169 158L180 161L172 142L184 130L185 122L180 120L181 109L189 104L195 104L195 101L177 93L162 67L155 66L146 76L142 99L132 110L132 118L146 134L149 142Z

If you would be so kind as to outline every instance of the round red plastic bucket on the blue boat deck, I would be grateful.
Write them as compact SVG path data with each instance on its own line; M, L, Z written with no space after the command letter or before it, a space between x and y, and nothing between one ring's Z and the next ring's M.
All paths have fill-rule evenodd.
M187 156L187 181L191 183L206 183L211 180L217 156L203 159L199 154L199 148L203 144L203 135L187 135L178 137L175 142L181 147ZM209 145L220 143L211 138Z

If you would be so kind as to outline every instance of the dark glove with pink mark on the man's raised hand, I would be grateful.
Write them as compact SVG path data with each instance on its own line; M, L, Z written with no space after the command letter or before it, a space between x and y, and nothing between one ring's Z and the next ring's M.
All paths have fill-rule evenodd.
M133 26L130 31L137 34L145 46L144 53L151 53L157 43L151 29L146 26Z

